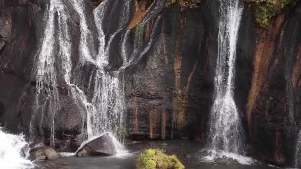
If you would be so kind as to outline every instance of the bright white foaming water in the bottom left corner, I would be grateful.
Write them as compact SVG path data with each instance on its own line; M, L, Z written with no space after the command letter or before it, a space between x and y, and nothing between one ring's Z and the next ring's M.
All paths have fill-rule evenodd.
M34 165L25 156L29 144L23 135L7 134L0 128L0 164L2 169L31 169Z

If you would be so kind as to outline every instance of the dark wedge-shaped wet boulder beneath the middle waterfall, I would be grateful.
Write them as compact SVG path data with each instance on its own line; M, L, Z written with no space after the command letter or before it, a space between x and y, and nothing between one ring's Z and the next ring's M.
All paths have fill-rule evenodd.
M85 141L76 152L78 157L93 155L112 156L115 154L117 154L117 150L114 145L114 138L110 133Z

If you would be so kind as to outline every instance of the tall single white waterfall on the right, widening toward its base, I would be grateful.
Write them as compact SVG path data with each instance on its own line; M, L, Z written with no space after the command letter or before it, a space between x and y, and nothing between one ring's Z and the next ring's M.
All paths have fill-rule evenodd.
M240 0L219 0L218 57L209 141L212 156L242 153L242 125L233 99L236 43L242 15ZM239 160L239 159L238 159Z

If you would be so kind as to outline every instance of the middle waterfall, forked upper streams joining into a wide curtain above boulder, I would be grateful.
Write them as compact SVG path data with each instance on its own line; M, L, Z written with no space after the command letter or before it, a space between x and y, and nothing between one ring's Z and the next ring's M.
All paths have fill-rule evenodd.
M114 35L105 45L105 34L102 30L102 20L107 1L103 1L96 9L94 9L94 21L98 32L98 54L91 56L88 50L87 39L90 37L88 26L86 23L86 16L83 10L84 3L75 0L74 7L80 14L80 27L81 27L81 42L80 42L80 65L86 63L95 65L95 70L90 73L88 90L90 93L90 102L93 105L87 111L87 134L88 140L95 136L102 135L103 133L110 132L117 136L119 141L124 140L125 126L124 126L124 77L123 72L107 71L109 67L108 49L110 42L113 40ZM119 30L117 30L119 31ZM116 141L114 141L116 143ZM119 143L118 143L119 145ZM120 146L117 152L120 153Z

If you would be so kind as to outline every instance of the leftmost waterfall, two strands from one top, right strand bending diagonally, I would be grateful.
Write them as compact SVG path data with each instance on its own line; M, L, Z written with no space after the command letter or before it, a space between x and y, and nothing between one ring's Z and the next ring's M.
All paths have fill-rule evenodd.
M35 110L30 122L30 136L31 139L33 139L33 137L37 135L34 123L36 116L41 112L39 132L43 136L43 123L50 121L50 146L53 147L55 139L55 116L61 108L57 89L58 76L63 76L62 78L69 86L70 96L77 106L82 107L84 111L89 112L89 110L92 109L92 105L87 101L85 93L76 85L71 84L71 38L68 28L69 13L67 7L61 0L50 0L45 13L45 32L42 39L42 46L36 60L37 84L34 103ZM55 27L55 15L57 16L57 28ZM56 34L58 35L57 44L55 43ZM55 53L54 50L56 45L58 45L58 53ZM44 96L45 99L43 98ZM44 118L48 119L44 120ZM84 128L84 125L82 128Z

